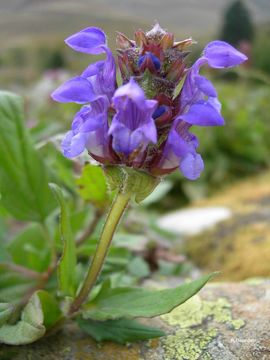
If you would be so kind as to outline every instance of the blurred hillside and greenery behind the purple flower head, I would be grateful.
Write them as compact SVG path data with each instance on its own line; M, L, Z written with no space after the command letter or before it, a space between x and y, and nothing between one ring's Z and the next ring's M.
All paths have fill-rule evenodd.
M177 39L192 36L198 42L188 57L190 64L212 39L229 41L249 57L239 69L210 73L227 125L196 130L205 171L195 183L180 174L171 176L168 196L161 202L161 207L171 208L269 167L269 0L1 0L0 87L24 96L36 141L62 133L74 105L55 104L49 94L89 62L63 40L84 27L98 26L114 48L117 30L132 37L135 29L147 30L156 20Z

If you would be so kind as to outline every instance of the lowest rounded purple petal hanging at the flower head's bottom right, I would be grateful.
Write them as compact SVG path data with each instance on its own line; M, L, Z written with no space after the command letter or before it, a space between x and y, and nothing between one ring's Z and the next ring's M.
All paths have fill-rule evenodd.
M196 180L204 169L203 159L200 154L189 153L179 166L183 175L189 180Z

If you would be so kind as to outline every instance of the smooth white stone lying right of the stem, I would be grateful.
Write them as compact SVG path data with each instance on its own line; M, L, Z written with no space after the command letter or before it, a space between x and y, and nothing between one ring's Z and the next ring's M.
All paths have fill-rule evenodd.
M164 230L184 236L197 235L232 216L226 207L204 207L179 210L162 216L158 225Z

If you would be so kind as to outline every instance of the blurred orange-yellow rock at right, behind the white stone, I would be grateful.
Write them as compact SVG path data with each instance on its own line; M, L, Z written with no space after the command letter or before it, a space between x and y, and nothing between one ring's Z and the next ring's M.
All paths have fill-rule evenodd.
M207 271L221 271L223 280L269 276L269 172L239 182L195 206L222 206L233 214L213 229L187 239L181 250L197 266ZM196 226L196 218L193 221Z

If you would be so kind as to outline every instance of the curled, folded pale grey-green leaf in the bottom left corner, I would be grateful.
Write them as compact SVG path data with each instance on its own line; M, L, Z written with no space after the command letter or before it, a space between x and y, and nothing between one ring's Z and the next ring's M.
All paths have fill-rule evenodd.
M41 302L38 295L34 294L24 308L19 322L15 325L4 324L0 327L0 343L30 344L40 339L45 331Z

